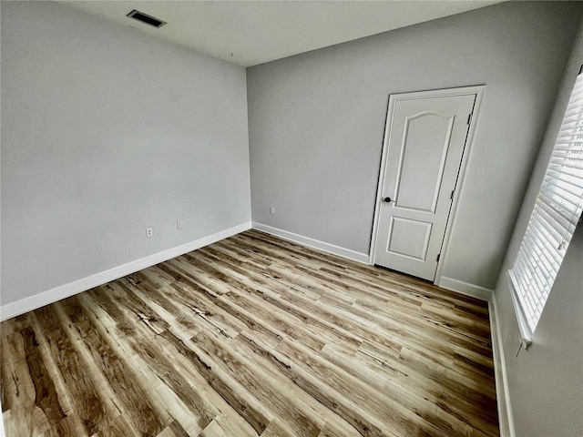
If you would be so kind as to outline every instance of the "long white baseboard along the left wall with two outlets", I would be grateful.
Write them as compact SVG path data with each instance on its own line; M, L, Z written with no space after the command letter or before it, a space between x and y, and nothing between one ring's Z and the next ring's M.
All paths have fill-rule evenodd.
M221 230L220 232L208 237L190 241L189 243L177 246L176 248L162 250L161 252L149 255L148 257L136 259L135 261L128 262L127 264L123 264L113 269L101 271L95 275L69 282L68 284L61 285L52 290L43 291L35 296L30 296L23 300L16 300L15 302L2 305L0 307L0 320L12 319L13 317L24 314L27 311L36 310L37 308L48 305L49 303L73 296L81 291L90 290L111 280L121 278L138 270L146 269L155 264L159 264L160 262L191 252L192 250L216 243L221 239L227 239L247 229L251 229L251 222L243 223L230 229Z

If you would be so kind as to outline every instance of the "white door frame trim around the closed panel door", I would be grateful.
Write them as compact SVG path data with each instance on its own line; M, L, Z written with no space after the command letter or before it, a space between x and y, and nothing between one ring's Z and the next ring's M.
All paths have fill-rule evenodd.
M388 156L388 145L390 140L390 120L394 117L394 107L395 102L400 100L412 100L417 98L426 97L454 97L454 96L467 96L470 94L476 95L476 103L474 104L474 112L472 113L472 120L470 127L467 132L467 137L465 139L464 155L462 155L462 162L460 164L459 173L457 175L457 182L455 184L454 198L452 200L452 205L450 207L449 219L447 219L447 224L445 225L445 235L444 242L441 249L441 256L437 262L437 270L435 272L434 284L439 285L441 281L441 272L447 259L447 249L449 249L450 232L454 229L455 217L457 215L458 200L460 198L462 189L464 187L465 180L465 168L469 162L470 155L472 153L472 146L474 145L474 137L477 127L477 121L479 119L478 112L482 105L482 99L484 97L484 91L486 90L485 85L479 86L462 86L458 88L446 88L446 89L434 89L430 91L418 91L413 93L398 93L391 94L389 96L389 106L387 111L387 116L384 124L384 140L383 140L383 155L381 156L381 169L379 172L379 182L376 190L376 202L374 204L374 219L373 219L373 233L371 239L371 250L369 253L369 265L373 265L373 255L376 249L376 236L378 233L379 226L379 215L381 210L381 204L383 202L383 183L385 177L386 159Z

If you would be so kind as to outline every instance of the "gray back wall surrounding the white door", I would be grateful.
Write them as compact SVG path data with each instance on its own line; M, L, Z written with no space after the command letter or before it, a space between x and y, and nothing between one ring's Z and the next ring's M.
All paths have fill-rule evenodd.
M249 68L253 221L368 253L389 95L486 84L443 275L494 289L581 6L510 2Z

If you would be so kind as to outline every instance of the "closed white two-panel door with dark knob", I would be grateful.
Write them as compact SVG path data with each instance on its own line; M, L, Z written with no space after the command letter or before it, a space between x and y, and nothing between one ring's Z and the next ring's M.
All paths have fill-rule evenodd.
M435 91L389 99L374 264L435 279L475 101Z

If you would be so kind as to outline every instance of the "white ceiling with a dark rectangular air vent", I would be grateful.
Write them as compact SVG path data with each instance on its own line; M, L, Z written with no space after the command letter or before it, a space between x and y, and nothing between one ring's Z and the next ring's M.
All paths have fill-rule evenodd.
M495 1L59 1L240 66L455 15ZM168 24L126 15L133 9Z

